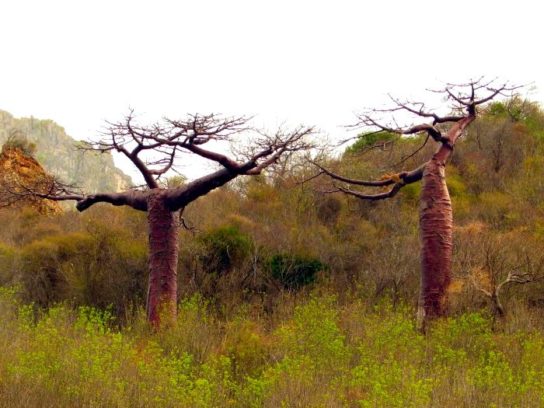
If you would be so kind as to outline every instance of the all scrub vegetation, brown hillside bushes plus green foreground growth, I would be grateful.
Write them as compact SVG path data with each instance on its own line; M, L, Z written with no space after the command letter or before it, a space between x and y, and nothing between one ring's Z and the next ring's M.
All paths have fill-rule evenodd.
M392 141L328 165L372 178L434 149ZM322 194L295 159L198 200L180 228L178 323L161 333L141 312L145 214L2 210L0 284L16 289L0 306L0 404L544 404L544 113L493 104L457 146L452 317L427 337L413 327L418 185L380 203ZM497 319L488 294L512 272L531 279L502 287Z

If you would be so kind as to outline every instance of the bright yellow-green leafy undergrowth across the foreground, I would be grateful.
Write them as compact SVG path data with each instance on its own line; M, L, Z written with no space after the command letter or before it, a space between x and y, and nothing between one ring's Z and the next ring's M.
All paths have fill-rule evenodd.
M160 333L108 311L37 312L0 292L3 407L538 407L544 336L470 313L427 336L413 311L332 296L220 317L199 297Z

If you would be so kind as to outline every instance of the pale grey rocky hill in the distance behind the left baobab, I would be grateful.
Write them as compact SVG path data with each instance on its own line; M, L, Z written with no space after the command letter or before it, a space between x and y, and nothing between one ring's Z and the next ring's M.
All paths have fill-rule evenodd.
M52 120L14 118L0 110L0 145L10 135L24 135L36 147L34 157L47 173L83 191L119 191L131 185L131 179L115 167L108 153L78 150L77 142Z

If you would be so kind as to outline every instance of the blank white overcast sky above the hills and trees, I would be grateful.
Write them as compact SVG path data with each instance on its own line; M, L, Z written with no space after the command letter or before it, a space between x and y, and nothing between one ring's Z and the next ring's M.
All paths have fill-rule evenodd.
M2 0L0 109L53 119L76 139L95 137L128 107L149 120L257 115L266 127L304 123L340 138L353 112L388 92L419 97L437 81L532 82L530 97L544 103L541 7Z

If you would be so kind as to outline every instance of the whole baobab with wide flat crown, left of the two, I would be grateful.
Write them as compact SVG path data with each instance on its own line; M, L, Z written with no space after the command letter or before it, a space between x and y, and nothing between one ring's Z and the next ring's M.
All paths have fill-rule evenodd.
M45 178L40 185L21 183L15 194L55 201L72 200L79 211L97 203L146 211L149 225L146 308L149 321L158 327L161 316L168 319L176 316L178 217L183 209L238 176L258 175L282 155L310 147L306 139L312 132L312 128L300 126L292 131L279 129L275 134L267 135L250 128L246 117L225 118L214 114L189 115L182 120L164 119L145 126L136 123L131 112L123 121L109 123L104 137L84 148L121 153L138 169L144 186L124 192L85 195L74 193L53 178ZM240 148L235 158L205 147L215 144L218 150L223 142L232 142L234 136L243 133L258 136L250 146ZM175 170L182 153L215 162L219 169L190 183L168 188L160 179Z

